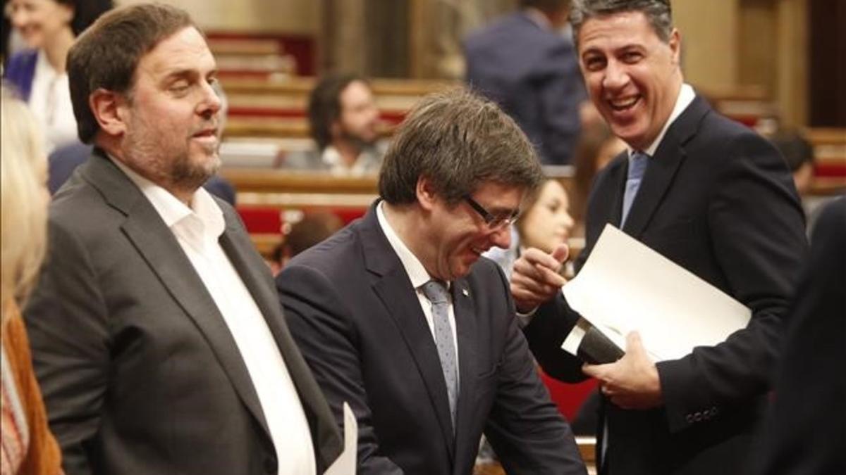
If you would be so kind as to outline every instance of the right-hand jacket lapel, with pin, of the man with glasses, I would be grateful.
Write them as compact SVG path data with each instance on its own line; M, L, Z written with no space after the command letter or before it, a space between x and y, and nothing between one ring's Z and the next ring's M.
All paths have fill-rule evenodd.
M470 292L470 284L464 278L453 282L452 293L455 331L459 341L459 407L455 416L455 450L458 454L475 453L479 441L468 437L475 409L476 375L479 373L476 364L479 333L476 330L475 295ZM466 444L473 447L466 447Z

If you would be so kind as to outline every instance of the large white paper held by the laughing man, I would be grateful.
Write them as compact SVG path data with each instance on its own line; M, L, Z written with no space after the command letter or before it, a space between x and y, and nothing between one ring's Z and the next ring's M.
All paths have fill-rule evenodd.
M745 328L752 314L717 287L611 225L602 230L579 275L562 292L571 308L621 349L626 335L639 331L656 362L682 358L694 347L715 346Z

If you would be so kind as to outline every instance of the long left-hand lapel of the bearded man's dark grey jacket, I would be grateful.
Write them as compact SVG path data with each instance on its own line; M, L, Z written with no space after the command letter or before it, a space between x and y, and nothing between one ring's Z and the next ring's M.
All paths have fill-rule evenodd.
M161 216L123 172L96 150L85 168L91 184L126 215L121 226L162 286L209 342L223 370L266 434L270 434L250 375L217 305ZM268 435L269 436L269 435Z

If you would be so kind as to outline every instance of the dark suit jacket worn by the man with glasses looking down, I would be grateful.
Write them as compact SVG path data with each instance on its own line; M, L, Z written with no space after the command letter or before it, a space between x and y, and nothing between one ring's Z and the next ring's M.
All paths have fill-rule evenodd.
M483 429L509 473L585 473L492 261L481 259L451 287L460 385L454 438L435 341L375 206L294 258L277 288L335 417L343 421L343 401L355 412L360 474L469 475Z

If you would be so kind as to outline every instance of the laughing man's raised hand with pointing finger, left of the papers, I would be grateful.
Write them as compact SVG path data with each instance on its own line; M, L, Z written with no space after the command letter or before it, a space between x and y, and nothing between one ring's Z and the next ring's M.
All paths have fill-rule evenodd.
M558 272L568 254L567 244L559 244L552 254L528 248L514 262L510 287L519 313L530 313L541 303L555 297L558 289L567 283Z

